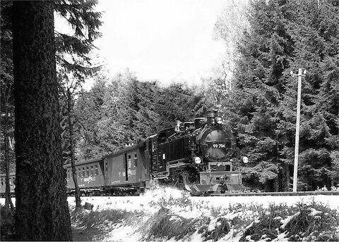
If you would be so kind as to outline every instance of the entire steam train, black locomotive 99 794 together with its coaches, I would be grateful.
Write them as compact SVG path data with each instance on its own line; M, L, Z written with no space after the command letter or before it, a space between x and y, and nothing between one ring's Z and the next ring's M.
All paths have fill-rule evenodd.
M110 155L76 163L81 193L136 194L154 182L178 186L192 194L241 191L239 148L211 111L192 122L148 136L144 141ZM247 158L243 158L244 163ZM71 164L64 165L67 190L74 193ZM1 185L2 185L1 177ZM1 186L1 193L4 186Z

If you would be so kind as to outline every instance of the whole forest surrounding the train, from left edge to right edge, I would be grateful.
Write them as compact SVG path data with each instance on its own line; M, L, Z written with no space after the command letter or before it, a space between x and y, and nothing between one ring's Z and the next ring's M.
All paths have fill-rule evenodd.
M1 28L6 30L1 31L1 173L5 155L15 170L13 60L11 51L4 49L11 45L10 18L3 14L7 7L1 2ZM58 9L61 14L72 11ZM337 185L339 1L256 0L244 15L246 24L236 37L227 32L227 21L215 25L215 31L223 33L220 38L234 41L232 75L220 74L195 87L184 83L162 87L156 80L138 79L133 70L108 77L105 68L89 64L90 42L78 43L75 37L56 33L64 162L70 163L72 155L76 162L107 155L174 126L176 120L192 120L217 108L237 136L241 153L249 158L242 166L244 184L290 191L297 109L297 76L290 72L302 68L307 74L302 78L298 190ZM95 22L99 15L92 17L86 24L95 39L100 37L100 23ZM74 49L77 43L84 44L83 49ZM78 62L71 65L64 61L64 53L81 58L74 58ZM95 82L85 90L82 86L89 78Z

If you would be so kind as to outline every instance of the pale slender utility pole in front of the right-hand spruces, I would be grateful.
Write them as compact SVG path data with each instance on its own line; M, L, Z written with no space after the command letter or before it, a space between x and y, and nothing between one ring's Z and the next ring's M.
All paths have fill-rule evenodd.
M291 70L291 75L293 72ZM302 99L302 76L306 75L302 73L302 68L298 71L298 95L297 95L297 122L295 124L295 167L293 170L293 192L297 192L297 181L298 181L298 155L299 155L299 129L300 129L300 103Z

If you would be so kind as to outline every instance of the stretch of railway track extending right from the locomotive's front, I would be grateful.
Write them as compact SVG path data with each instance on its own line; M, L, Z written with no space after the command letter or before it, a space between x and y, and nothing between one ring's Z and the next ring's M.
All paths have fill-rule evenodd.
M339 191L280 191L280 192L261 192L261 193L210 193L207 196L316 196L331 195L339 196Z

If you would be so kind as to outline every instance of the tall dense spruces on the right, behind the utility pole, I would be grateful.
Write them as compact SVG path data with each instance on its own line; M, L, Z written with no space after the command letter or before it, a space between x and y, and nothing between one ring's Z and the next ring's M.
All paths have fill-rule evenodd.
M224 104L242 153L252 161L245 170L249 181L274 178L275 190L289 189L297 106L297 81L290 70L302 67L308 74L302 82L299 189L335 184L338 16L335 1L251 3L235 86Z

